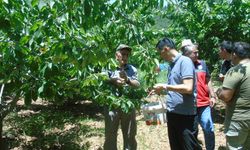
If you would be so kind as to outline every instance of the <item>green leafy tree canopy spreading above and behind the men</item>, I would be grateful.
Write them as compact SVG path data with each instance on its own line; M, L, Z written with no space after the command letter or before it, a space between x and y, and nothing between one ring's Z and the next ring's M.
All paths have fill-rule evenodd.
M201 57L218 60L222 40L249 42L250 3L244 0L1 0L1 83L27 104L77 97L113 103L103 70L116 66L115 48L133 48L131 63L145 86L154 82L156 42L190 38ZM141 91L142 92L142 91ZM107 100L107 97L110 98ZM128 102L128 107L133 105Z

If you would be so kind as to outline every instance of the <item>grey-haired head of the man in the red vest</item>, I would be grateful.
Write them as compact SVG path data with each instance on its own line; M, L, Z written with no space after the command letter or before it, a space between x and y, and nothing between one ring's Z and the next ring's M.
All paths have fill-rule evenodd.
M182 54L189 57L193 62L198 60L198 46L191 44L181 47Z

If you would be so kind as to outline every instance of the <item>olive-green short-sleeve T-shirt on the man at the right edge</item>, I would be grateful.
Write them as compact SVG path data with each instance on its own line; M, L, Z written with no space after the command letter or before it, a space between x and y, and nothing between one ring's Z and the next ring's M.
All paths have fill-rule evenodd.
M250 63L231 68L225 76L223 87L235 90L226 107L225 126L230 120L250 120Z

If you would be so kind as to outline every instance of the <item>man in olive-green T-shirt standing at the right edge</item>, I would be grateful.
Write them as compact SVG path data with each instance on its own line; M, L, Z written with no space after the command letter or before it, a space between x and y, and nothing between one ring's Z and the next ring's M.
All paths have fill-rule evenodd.
M236 42L232 51L235 65L216 92L226 103L224 132L229 150L250 149L250 44Z

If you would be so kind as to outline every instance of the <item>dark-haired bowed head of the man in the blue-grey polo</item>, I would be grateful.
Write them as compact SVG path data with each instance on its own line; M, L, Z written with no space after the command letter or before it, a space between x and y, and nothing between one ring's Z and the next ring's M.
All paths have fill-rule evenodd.
M163 38L156 44L156 49L160 53L161 58L166 61L172 61L171 51L175 50L175 43L172 39Z

